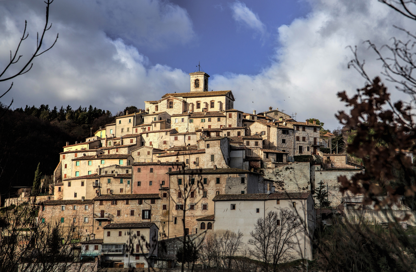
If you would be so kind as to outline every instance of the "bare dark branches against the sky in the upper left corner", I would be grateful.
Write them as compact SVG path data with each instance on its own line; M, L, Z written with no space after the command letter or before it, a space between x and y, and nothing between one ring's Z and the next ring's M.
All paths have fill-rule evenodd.
M52 27L52 23L49 25L49 7L50 7L50 5L52 4L53 1L54 0L46 0L45 1L45 3L46 3L45 27L43 27L43 30L42 30L42 33L40 34L40 37L39 37L39 32L37 33L37 41L36 41L35 52L32 53L32 56L29 58L29 60L23 62L22 64L21 64L21 62L19 62L20 58L23 57L23 55L19 55L20 45L22 45L22 42L24 40L26 40L27 37L29 36L29 33L26 32L27 21L25 21L25 29L23 30L23 34L22 34L22 37L20 38L20 42L17 45L17 48L16 48L16 50L13 54L12 54L12 50L10 50L10 61L7 65L5 65L5 68L2 71L0 71L0 82L12 80L13 78L15 78L19 75L23 75L23 74L29 72L30 69L32 69L32 67L33 67L33 60L35 59L35 57L39 57L40 55L42 55L46 51L50 50L55 45L56 41L58 40L58 34L56 35L56 39L50 47L47 47L46 49L42 48L43 38L45 37L45 33L46 33L46 31L50 30L50 28ZM19 64L21 64L21 65L19 67L16 67ZM10 72L10 70L12 68L15 68L15 70L17 70L17 72L12 72L11 74L8 73L8 72ZM0 95L0 98L3 97L7 92L9 92L12 89L12 87L13 87L13 82L10 84L10 87L5 92L3 92L2 95ZM10 108L12 103L13 103L13 99L12 99L12 102L10 102L10 105L7 107L7 109L5 109L5 112Z

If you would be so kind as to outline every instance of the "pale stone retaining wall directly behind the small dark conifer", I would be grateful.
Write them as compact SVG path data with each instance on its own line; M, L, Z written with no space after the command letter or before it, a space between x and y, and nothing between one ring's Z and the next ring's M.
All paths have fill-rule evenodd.
M342 195L339 192L339 176L346 176L350 179L353 175L361 172L361 170L322 170L315 171L315 187L318 187L319 182L324 182L324 185L328 185L328 200L331 201L332 207L337 207L341 204L342 197L352 196L352 193L347 191Z

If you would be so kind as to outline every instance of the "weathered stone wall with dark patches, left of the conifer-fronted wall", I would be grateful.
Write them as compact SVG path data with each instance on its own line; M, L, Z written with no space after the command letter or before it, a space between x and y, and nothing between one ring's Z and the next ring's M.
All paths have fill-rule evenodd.
M276 191L310 190L310 163L293 162L275 168L265 169L265 178L274 180Z

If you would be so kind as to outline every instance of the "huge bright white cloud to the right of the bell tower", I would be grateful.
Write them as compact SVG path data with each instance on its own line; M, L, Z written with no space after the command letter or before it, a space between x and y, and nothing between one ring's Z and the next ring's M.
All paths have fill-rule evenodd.
M363 42L370 39L381 46L390 43L394 35L407 40L392 25L408 29L414 25L412 28L409 20L377 1L320 0L311 5L305 18L278 28L280 47L270 67L258 75L214 75L210 88L233 90L235 107L246 112L279 107L288 114L297 113L297 120L314 117L328 128L336 128L339 124L334 114L345 109L337 92L352 94L364 86L364 79L354 69L347 69L353 56L345 47L359 47L366 70L374 77L380 75L381 63ZM408 99L391 85L390 91L394 99Z

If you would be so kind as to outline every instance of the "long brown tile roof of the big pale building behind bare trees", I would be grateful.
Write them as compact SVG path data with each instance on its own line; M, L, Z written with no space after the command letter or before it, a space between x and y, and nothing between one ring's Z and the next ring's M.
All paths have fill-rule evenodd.
M245 194L245 195L216 195L213 201L227 200L275 200L275 199L307 199L310 192L284 192L272 194Z

